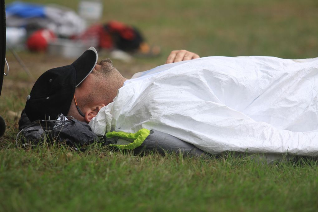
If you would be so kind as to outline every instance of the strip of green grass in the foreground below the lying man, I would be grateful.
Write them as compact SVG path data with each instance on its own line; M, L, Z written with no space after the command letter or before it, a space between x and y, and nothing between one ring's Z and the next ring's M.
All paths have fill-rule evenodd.
M92 147L0 152L1 211L315 211L317 160L267 164Z

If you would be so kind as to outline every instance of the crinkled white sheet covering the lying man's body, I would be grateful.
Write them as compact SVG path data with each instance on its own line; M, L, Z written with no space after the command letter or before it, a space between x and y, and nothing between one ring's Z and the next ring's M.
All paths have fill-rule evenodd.
M318 58L206 57L134 75L89 123L141 128L196 147L318 156Z

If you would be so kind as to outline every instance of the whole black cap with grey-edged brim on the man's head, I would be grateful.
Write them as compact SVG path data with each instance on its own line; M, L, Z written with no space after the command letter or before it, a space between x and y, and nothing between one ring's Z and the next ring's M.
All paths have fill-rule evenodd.
M25 104L25 113L31 121L55 119L67 115L75 88L93 71L97 51L90 47L71 65L44 72L33 85Z

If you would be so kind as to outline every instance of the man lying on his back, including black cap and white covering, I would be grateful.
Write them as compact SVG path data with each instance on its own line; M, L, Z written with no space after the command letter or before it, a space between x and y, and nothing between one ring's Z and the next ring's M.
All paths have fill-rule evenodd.
M91 48L44 73L25 112L31 121L66 113L97 134L156 129L212 154L318 155L318 58L174 54L172 61L178 54L196 59L181 57L128 80L110 60L95 66Z

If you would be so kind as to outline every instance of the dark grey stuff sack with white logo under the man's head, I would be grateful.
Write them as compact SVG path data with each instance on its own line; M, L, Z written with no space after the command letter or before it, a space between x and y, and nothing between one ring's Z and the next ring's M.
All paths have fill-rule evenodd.
M19 120L20 132L18 136L24 139L24 146L37 145L46 140L50 142L66 142L70 146L80 147L92 144L96 141L106 142L105 136L99 139L85 122L67 119L63 114L59 114L56 120L37 120L30 122L24 111ZM17 138L18 138L17 136Z

